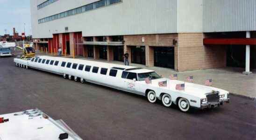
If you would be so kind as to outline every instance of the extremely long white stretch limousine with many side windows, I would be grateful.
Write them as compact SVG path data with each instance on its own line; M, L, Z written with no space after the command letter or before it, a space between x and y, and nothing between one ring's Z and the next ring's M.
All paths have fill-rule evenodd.
M124 66L111 63L78 60L62 57L38 56L28 60L14 58L16 66L34 68L63 75L64 78L100 84L122 91L140 94L150 103L161 100L164 106L178 105L187 112L191 107L218 107L229 102L229 92L218 88L169 80L156 74L153 70ZM145 80L150 77L150 83ZM159 82L166 81L165 86ZM185 84L183 91L176 90L177 84Z

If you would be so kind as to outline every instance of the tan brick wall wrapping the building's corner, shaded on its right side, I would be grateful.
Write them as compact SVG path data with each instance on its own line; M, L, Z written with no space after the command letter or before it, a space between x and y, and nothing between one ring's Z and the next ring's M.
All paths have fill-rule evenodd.
M204 46L203 33L178 34L178 71L226 66L225 46Z

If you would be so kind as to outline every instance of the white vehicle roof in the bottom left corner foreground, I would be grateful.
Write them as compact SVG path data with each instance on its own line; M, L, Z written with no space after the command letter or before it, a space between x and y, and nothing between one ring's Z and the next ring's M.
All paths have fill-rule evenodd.
M0 123L0 140L82 140L62 120L55 121L38 109L0 115L9 121Z

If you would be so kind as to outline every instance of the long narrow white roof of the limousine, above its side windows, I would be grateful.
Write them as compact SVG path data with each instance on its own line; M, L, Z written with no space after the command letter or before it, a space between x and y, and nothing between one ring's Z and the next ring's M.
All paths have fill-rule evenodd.
M101 67L101 68L103 67L103 68L112 68L117 70L128 70L129 72L140 72L142 70L148 71L146 69L141 69L140 67L135 67L135 66L126 66L126 65L120 65L120 64L95 62L95 61L73 59L73 58L64 58L64 57L55 57L55 56L36 56L36 58L57 60L60 62L64 61L64 62L70 62L70 63L78 63L78 64Z

